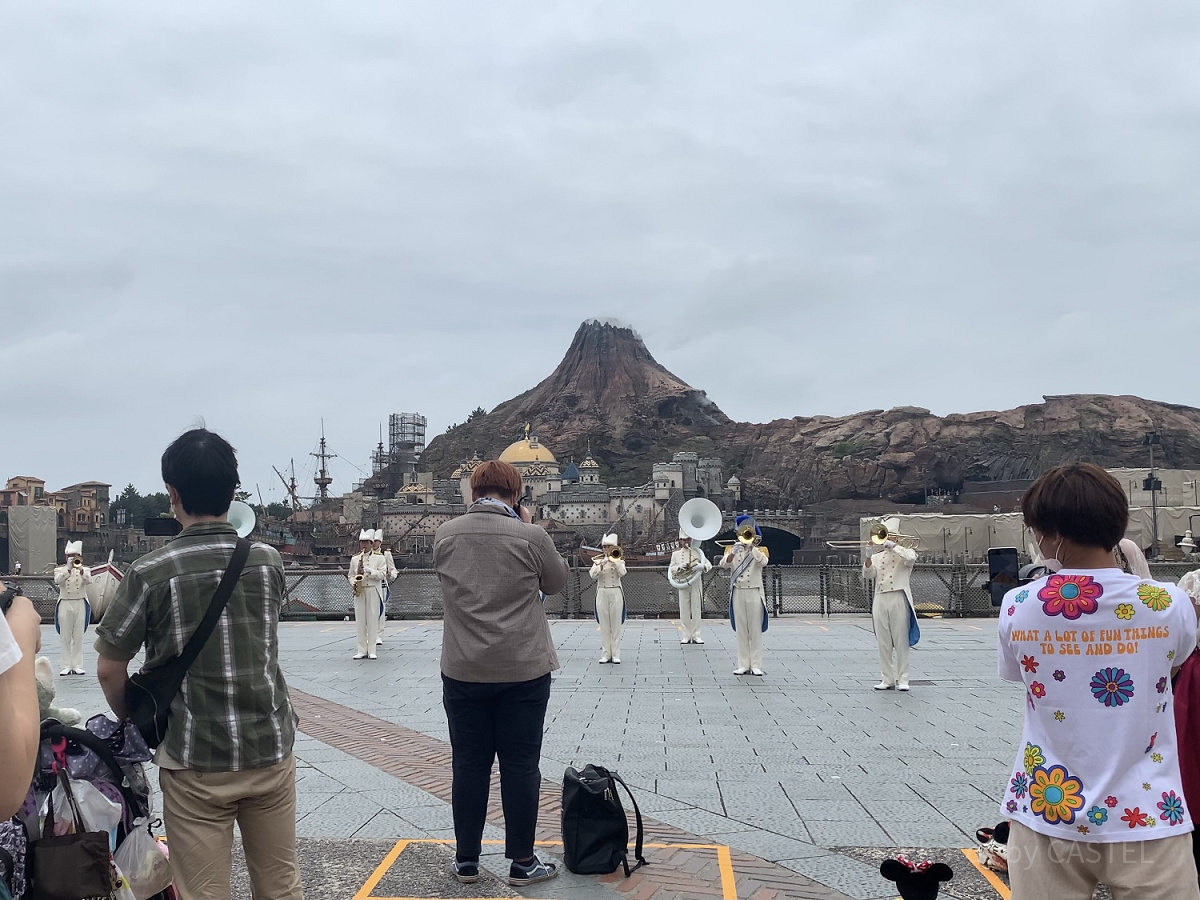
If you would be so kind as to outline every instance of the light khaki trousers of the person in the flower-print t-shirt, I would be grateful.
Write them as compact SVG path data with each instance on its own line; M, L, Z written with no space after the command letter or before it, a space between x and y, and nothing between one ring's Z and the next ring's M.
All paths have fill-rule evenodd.
M1160 823L1154 830L1168 827ZM1012 900L1091 900L1100 882L1109 886L1112 900L1200 899L1192 833L1088 844L1048 838L1013 822L1008 838Z

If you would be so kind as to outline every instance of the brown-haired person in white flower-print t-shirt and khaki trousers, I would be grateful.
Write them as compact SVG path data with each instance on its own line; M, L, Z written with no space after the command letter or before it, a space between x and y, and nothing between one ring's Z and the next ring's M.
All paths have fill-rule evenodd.
M1200 900L1171 672L1196 646L1188 596L1116 568L1121 485L1090 463L1045 473L1021 500L1050 575L1004 595L1000 677L1025 686L1001 802L1013 900Z

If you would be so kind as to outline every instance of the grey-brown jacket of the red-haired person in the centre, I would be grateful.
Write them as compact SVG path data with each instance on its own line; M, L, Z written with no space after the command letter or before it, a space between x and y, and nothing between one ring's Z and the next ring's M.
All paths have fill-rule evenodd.
M474 505L433 535L444 607L442 673L460 682L529 682L558 668L539 592L566 587L546 532L499 506Z

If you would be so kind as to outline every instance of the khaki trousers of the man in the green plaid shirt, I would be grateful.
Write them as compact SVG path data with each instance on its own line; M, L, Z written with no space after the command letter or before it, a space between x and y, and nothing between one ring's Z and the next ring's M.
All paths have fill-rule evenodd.
M296 865L296 761L242 772L160 769L170 871L180 900L233 896L233 823L254 900L301 900Z

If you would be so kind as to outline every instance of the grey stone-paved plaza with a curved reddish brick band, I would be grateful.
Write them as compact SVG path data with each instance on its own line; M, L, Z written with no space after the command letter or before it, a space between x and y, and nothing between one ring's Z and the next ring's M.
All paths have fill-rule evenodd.
M564 874L518 894L499 881L486 886L493 893L456 884L443 874L452 846L437 842L452 838L440 623L389 623L374 662L350 659L350 623L284 624L310 895L872 900L895 896L877 859L919 848L955 869L943 896L996 896L960 850L1000 818L991 798L1019 738L1022 697L995 674L995 622L923 622L908 695L871 690L864 617L773 620L764 678L731 673L734 640L720 620L706 623L703 646L680 646L668 620L630 622L620 666L596 661L594 622L552 630L563 668L547 713L540 836L559 840L563 769L595 762L634 787L648 841L689 846L653 847L652 865L628 880ZM46 643L56 661L50 630ZM60 679L59 690L65 704L103 708L91 677ZM503 840L494 785L492 822L485 838ZM484 865L503 876L503 845L491 848Z

